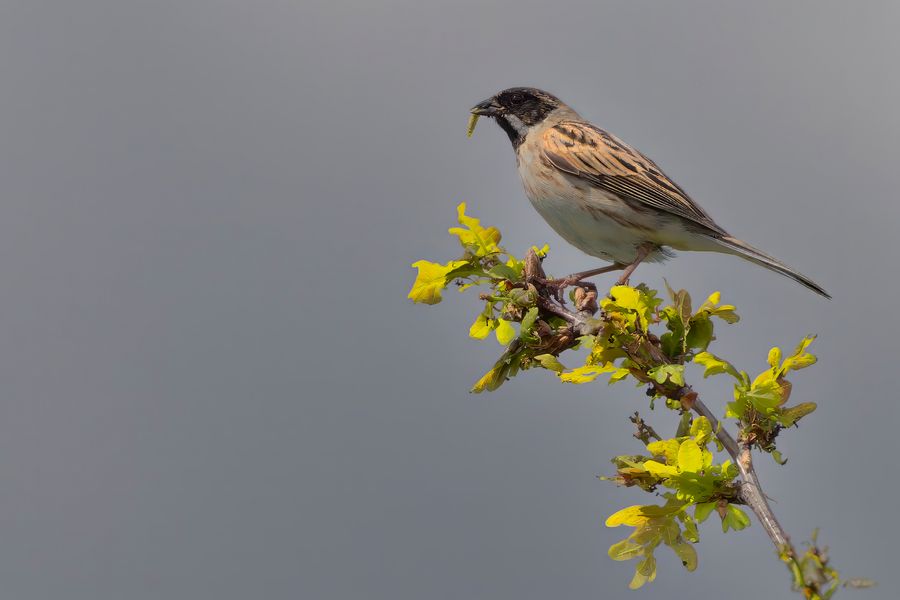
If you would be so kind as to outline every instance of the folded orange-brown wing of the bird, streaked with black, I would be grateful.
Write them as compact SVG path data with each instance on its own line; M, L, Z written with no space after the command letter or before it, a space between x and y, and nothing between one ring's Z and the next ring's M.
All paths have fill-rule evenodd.
M616 194L638 210L656 209L726 234L652 160L589 123L563 121L549 128L541 151L555 168Z

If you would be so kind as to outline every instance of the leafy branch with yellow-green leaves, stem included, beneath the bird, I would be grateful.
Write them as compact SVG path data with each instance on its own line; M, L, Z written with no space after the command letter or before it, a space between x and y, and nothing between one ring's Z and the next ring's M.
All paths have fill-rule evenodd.
M617 481L625 485L638 485L648 492L654 491L659 484L674 487L678 493L684 492L683 498L677 494L665 494L669 500L666 506L632 506L618 511L607 520L609 526L628 524L635 527L628 538L610 547L610 556L616 560L640 558L629 587L640 587L655 578L653 549L662 542L672 547L685 568L689 571L696 568L696 551L690 545L690 542L698 541L696 522L682 511L695 505L695 517L702 521L715 508L726 530L728 527L743 529L749 524L747 516L732 504L750 507L778 550L779 558L793 575L793 588L809 600L830 598L841 583L854 587L868 585L865 581L842 581L837 571L828 564L825 549L817 545L815 534L810 548L802 556L797 554L775 518L753 466L753 446L771 452L778 462L783 462L775 448L775 436L784 427L815 410L812 402L793 407L782 406L790 394L785 373L815 362L815 356L805 352L814 336L804 338L794 354L783 362L780 349L773 348L769 352L771 370L764 371L751 384L746 374L739 373L727 361L706 352L709 343L715 339L712 317L728 323L738 320L734 306L720 305L718 292L711 294L696 312L692 311L690 296L684 290L675 292L669 289L672 303L660 309L662 300L657 298L658 292L645 286L628 287L627 280L625 287L611 290L615 297L600 300L597 287L582 279L606 269L547 279L541 265L546 247L541 250L532 248L525 260L520 261L499 245L499 230L480 225L478 219L465 214L465 209L465 204L457 207L457 218L462 227L450 229L450 233L459 238L464 255L446 264L426 260L413 263L418 274L409 298L422 304L436 304L441 301L441 292L453 282L464 283L465 287L487 285L491 288L491 294L481 296L485 307L470 327L469 335L483 339L491 331L496 331L497 340L509 345L494 366L475 383L473 392L493 391L519 371L537 366L554 371L560 379L571 383L586 383L601 373L612 372L611 381L630 375L639 383L650 386L647 390L649 396L665 398L667 406L679 410L681 414L681 424L674 440L660 440L660 436L644 423L638 413L631 418L635 425L634 436L645 444L652 444L651 439L678 442L677 460L668 456L671 454L669 452L665 466L674 466L679 473L696 472L712 486L712 492L700 496L692 494L673 477L661 476L651 469L634 468L631 465L634 461L630 459L641 457L616 457L614 462L624 466L618 469ZM574 288L572 294L564 295L570 285ZM571 298L571 304L566 302L565 297ZM600 306L603 306L603 312L600 312ZM520 324L518 336L510 322ZM663 323L667 332L657 336L650 330L651 325ZM557 357L568 349L582 346L590 346L591 350L584 366L566 371ZM702 351L696 352L698 349ZM623 354L625 359L616 363ZM738 379L733 405L737 408L732 411L739 420L736 437L723 429L721 422L698 394L685 384L686 361L704 364L707 375L725 372ZM775 414L766 413L763 418L757 418L753 408L757 401L775 402L780 408ZM685 437L681 437L686 435L688 424L698 423L690 418L691 412L705 420L699 423L703 433L699 471L697 440L694 440L692 447ZM747 417L748 414L750 417ZM722 463L710 465L707 470L702 466L711 459L707 448L707 424L715 432L718 443L731 456L734 467L726 467ZM690 431L694 431L693 427ZM664 445L669 449L672 447L671 444ZM682 450L684 457L681 456ZM649 465L650 461L647 459L644 464ZM698 499L705 501L698 503ZM704 505L702 511L701 504ZM698 513L702 514L698 516ZM681 525L676 522L679 519L684 524L683 536L675 533L681 530Z

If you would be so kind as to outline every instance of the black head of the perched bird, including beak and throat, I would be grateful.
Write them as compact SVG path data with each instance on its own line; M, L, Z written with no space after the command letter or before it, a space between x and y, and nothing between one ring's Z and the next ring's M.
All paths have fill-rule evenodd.
M503 128L514 146L525 139L528 130L562 106L559 98L537 88L509 88L472 107L474 115L491 117Z

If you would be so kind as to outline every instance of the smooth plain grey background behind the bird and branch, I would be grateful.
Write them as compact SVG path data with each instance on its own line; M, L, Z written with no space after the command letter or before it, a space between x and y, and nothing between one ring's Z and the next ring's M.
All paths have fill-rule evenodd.
M594 476L638 449L640 390L469 395L500 352L474 295L405 299L461 200L551 272L596 264L499 129L465 138L521 84L834 294L725 256L637 277L723 289L748 370L820 335L794 396L820 411L761 475L881 581L848 597L896 597L900 4L747 4L0 1L0 597L787 597L758 524L712 522L696 573L663 549L628 592L602 523L643 498Z

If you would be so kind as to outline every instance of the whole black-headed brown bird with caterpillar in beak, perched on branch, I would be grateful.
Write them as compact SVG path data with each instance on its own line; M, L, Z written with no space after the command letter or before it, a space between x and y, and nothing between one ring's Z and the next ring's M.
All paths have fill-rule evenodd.
M474 120L494 119L509 136L525 194L550 227L611 263L554 280L560 300L563 288L601 273L622 270L617 283L627 284L640 263L662 262L672 250L739 256L831 298L806 275L731 236L656 163L553 94L513 87L470 112Z

